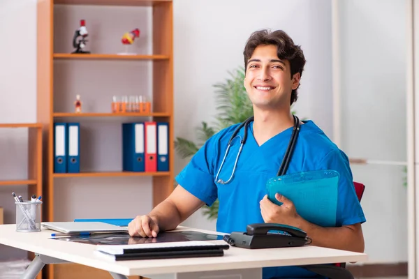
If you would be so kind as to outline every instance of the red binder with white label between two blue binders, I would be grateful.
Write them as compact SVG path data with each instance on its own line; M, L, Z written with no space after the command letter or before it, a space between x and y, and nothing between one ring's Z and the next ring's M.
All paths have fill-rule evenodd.
M144 123L145 127L145 172L157 171L157 134L156 122Z

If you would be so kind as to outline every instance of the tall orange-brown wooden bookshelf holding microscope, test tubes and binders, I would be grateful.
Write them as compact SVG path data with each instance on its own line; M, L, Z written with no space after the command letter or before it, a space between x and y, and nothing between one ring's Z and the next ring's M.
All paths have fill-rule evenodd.
M117 10L115 16L112 14L114 10ZM129 17L129 20L125 22L124 13ZM71 39L82 19L86 20L89 30L86 49L90 50L91 54L72 54ZM66 181L75 178L77 180L73 180L74 184L78 183L79 178L82 181L84 178L91 180L115 177L115 179L121 179L123 185L124 179L128 181L129 177L138 176L139 181L147 176L151 177L152 195L142 198L152 199L152 206L156 206L170 195L175 180L172 1L38 0L37 20L37 119L42 123L45 135L43 156L45 220L57 219L54 202L61 197L57 196L58 191L54 189L68 185ZM119 33L121 32L119 30L131 31L133 28L139 28L142 32L140 38L136 38L134 42L137 44L137 50L140 51L135 51L134 55L118 54L124 51L124 46L120 43L123 33ZM115 70L115 75L110 74L112 70ZM112 84L113 80L115 83ZM143 86L143 84L146 85ZM131 93L126 93L126 91ZM79 93L82 102L90 100L90 105L95 108L91 109L83 105L82 113L74 113L74 107L71 110L71 105L68 104L73 103L75 94ZM142 94L148 94L145 96L152 98L152 113L115 114L110 112L110 101L113 95L140 96ZM80 167L80 173L54 173L54 121L78 121L80 134L82 134L85 131L82 127L87 129L86 127L92 123L96 125L96 121L98 126L103 125L101 127L107 128L106 125L119 125L118 121L125 121L131 117L141 118L141 121L168 122L169 172L86 171ZM94 128L87 132L98 133ZM103 140L95 135L89 135L86 138L90 144L93 144L95 140ZM84 142L80 137L80 146L82 144ZM107 142L107 144L112 143ZM80 156L82 156L81 153ZM80 158L80 161L82 160ZM91 162L96 164L95 160L89 163ZM91 165L89 169L90 167ZM98 167L98 169L119 169L119 167ZM133 179L129 181L132 183ZM138 187L142 186L141 183L143 182L139 182ZM122 187L118 184L118 188ZM97 195L107 195L107 193L101 189ZM129 195L129 193L124 193L124 195ZM108 273L105 275L103 271L80 264L52 264L46 266L44 270L45 278L48 279L110 278Z

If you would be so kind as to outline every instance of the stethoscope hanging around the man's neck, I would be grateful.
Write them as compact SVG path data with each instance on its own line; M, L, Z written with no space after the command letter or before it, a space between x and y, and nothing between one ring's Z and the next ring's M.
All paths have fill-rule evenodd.
M295 116L295 115L293 115L293 116L294 116L293 133L291 134L290 142L288 142L288 147L286 149L285 156L282 159L281 167L279 167L277 176L281 176L281 175L284 175L286 173L286 170L288 169L288 165L290 163L291 157L293 156L295 142L297 142L298 133L300 133L300 119L298 119L298 117ZM235 173L235 169L236 169L236 166L237 166L237 160L239 160L239 156L240 156L240 153L242 152L243 145L244 145L244 143L246 143L246 140L247 140L247 127L249 126L249 123L251 123L251 121L253 121L253 119L254 119L253 116L246 119L246 121L241 123L240 126L238 126L235 129L233 135L231 135L230 140L228 141L228 144L227 144L226 153L224 153L223 161L221 162L219 170L218 170L218 172L216 173L216 176L215 176L216 183L227 184L231 181L231 179L233 179L233 175ZM228 179L228 181L223 181L223 179L219 179L219 174L221 172L221 169L223 168L224 161L226 160L228 150L230 149L231 142L233 142L233 140L235 139L237 134L240 132L240 129L243 128L243 126L244 126L244 135L243 135L243 138L239 136L241 138L240 148L239 148L239 151L237 152L237 156L236 156L234 167L233 167L233 172L231 172L231 176Z

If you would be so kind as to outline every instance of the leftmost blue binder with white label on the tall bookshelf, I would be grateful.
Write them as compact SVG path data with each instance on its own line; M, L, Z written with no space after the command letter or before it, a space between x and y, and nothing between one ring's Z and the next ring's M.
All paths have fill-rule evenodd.
M54 123L54 172L67 172L67 123Z

